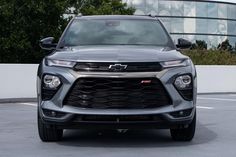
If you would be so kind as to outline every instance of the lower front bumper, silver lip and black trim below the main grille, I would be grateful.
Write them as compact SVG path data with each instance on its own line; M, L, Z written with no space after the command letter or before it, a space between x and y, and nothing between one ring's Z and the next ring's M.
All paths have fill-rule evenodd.
M47 110L50 112L49 110ZM71 114L54 112L61 117L45 115L45 110L41 112L41 118L45 124L57 125L63 129L168 129L185 127L190 124L195 115L195 108L184 110L187 116L180 116L180 112L162 114L137 114L137 115L91 115L91 114Z

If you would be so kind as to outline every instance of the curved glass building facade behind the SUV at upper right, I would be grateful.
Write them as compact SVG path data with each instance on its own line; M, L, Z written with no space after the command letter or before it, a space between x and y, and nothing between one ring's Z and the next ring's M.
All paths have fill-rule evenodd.
M210 0L124 0L136 8L136 15L156 15L176 41L204 40L216 48L226 39L236 46L235 3Z

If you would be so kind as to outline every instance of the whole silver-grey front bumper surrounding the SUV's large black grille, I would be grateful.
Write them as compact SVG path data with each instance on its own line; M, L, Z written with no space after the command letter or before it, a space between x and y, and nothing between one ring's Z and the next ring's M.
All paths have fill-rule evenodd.
M180 125L184 126L191 123L195 110L196 110L196 73L195 69L191 66L166 69L161 72L133 72L133 73L92 73L83 72L78 73L67 68L58 67L40 67L38 74L38 107L40 117L45 123L56 124L63 128L173 128ZM53 71L53 73L52 73ZM41 100L41 77L45 73L57 75L61 78L63 85L54 97L49 101ZM176 76L182 74L192 74L193 77L193 100L187 101L179 94L176 88L173 86L173 81ZM115 78L134 78L134 77L155 77L158 78L169 93L172 104L168 106L162 106L158 108L150 109L89 109L78 108L73 106L63 105L63 100L66 94L70 90L73 83L80 77L115 77ZM191 110L187 115L178 116L177 113L181 111ZM49 111L49 115L44 111ZM51 116L50 112L55 112L60 116ZM175 116L173 116L173 114ZM177 114L177 116L176 116ZM83 120L85 116L100 116L110 117L113 120ZM126 120L121 120L124 116L130 116ZM135 119L132 116L146 116L150 119L141 120Z

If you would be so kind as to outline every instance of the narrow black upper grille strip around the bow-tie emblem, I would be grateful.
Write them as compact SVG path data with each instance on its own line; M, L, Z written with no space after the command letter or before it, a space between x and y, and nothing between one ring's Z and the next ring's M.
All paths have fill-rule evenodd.
M125 65L125 68L112 69L112 65ZM161 71L162 66L158 62L139 62L139 63L77 63L74 67L76 71L94 71L94 72L153 72Z

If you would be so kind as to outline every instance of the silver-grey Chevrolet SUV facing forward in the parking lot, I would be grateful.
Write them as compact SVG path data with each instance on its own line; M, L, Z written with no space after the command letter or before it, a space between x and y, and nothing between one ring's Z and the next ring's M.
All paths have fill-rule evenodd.
M161 21L151 16L79 16L38 68L38 130L58 141L63 129L170 129L190 141L196 125L196 70Z

